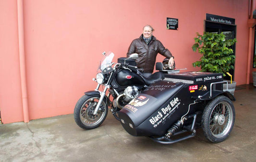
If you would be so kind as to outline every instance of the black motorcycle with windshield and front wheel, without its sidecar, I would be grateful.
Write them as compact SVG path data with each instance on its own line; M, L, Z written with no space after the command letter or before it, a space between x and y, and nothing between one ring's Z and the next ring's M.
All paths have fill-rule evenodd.
M161 72L147 78L137 74L135 59L138 54L118 58L118 63L112 63L113 58L112 52L103 53L98 73L93 78L98 83L96 89L85 92L75 105L74 120L85 130L98 127L106 119L109 107L114 117L120 120L118 111L149 85L164 79ZM99 90L100 86L104 87L103 91ZM108 89L109 93L106 95Z

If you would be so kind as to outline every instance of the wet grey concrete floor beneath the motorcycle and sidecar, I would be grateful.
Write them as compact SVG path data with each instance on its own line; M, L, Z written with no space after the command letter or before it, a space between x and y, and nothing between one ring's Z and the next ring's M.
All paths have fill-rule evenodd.
M255 162L256 87L238 86L230 137L211 143L195 138L161 145L133 137L111 113L94 130L82 130L73 114L0 125L0 162Z

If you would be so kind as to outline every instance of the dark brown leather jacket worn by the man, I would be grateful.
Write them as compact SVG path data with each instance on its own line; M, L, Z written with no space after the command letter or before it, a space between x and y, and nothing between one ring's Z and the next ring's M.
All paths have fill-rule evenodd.
M139 58L136 59L138 70L145 73L153 73L158 53L167 58L172 57L171 52L154 36L147 45L143 40L143 34L141 34L139 38L133 40L128 49L127 57L134 53L139 55Z

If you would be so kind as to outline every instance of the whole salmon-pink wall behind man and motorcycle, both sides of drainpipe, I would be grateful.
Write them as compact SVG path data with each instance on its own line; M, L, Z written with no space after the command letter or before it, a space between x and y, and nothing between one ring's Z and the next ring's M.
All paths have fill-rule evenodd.
M237 24L235 80L246 83L248 0L24 0L24 46L29 118L73 113L76 101L93 90L103 51L115 60L150 24L175 56L178 68L192 63L196 32L206 13L231 17ZM166 18L179 19L179 30L166 30ZM4 123L23 121L17 1L0 1L0 111ZM163 57L158 55L157 61Z

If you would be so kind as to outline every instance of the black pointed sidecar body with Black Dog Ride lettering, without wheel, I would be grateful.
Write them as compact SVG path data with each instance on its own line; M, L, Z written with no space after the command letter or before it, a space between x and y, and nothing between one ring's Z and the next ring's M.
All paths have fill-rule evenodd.
M188 112L194 102L189 93L188 85L181 82L163 80L148 86L119 111L123 128L133 136L163 136Z

